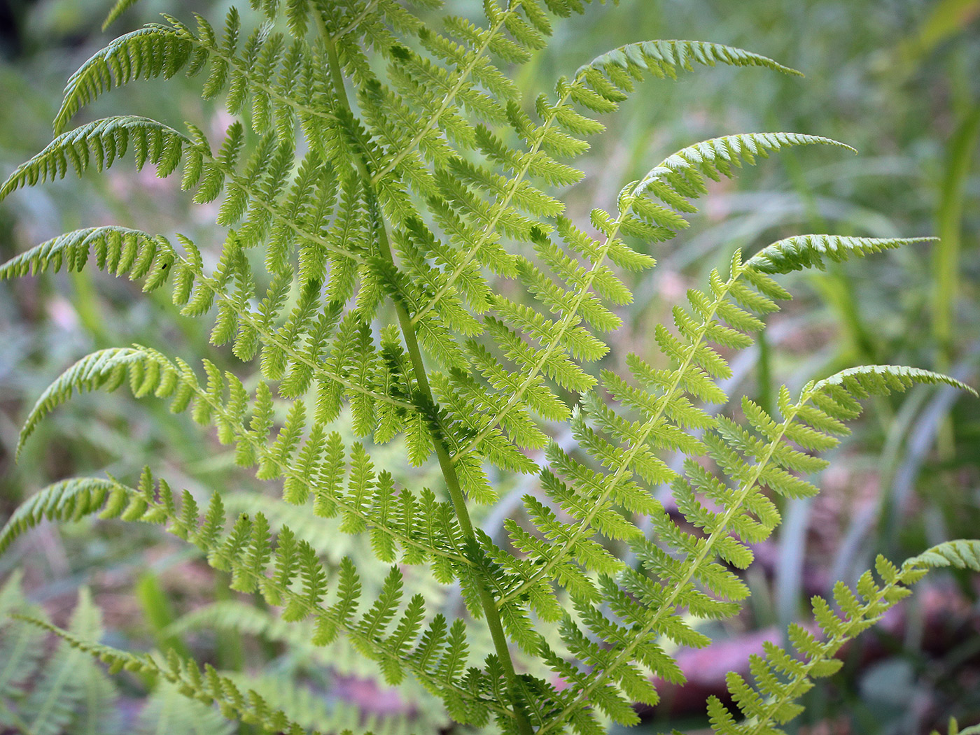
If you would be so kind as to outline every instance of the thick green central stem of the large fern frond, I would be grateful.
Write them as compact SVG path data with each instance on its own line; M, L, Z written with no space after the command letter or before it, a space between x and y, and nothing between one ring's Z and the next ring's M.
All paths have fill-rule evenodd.
M350 102L347 99L344 77L340 70L340 60L337 58L336 48L333 41L330 39L329 34L326 32L326 27L323 23L322 17L319 14L319 11L314 12L314 17L317 20L320 34L322 35L326 45L330 76L336 90L337 102L346 108L345 112L350 113ZM368 164L363 159L359 158L357 160L357 167L362 179L364 180L367 195L373 199L373 185L371 181L371 174L368 170ZM380 227L377 229L377 244L381 257L392 267L395 267L395 259L391 253L391 244L388 241L388 231L385 227L383 219L381 220ZM412 360L412 368L416 376L417 393L426 405L434 407L436 403L432 395L432 389L429 387L428 374L425 371L425 363L422 360L421 350L418 348L418 341L415 328L412 324L412 317L409 314L408 309L405 308L405 304L402 303L400 299L393 299L393 301L395 304L395 312L398 315L398 322L401 325L402 336L405 339L405 345L409 351L409 357ZM475 542L476 534L473 530L472 521L469 519L469 511L466 509L466 497L464 496L463 488L460 485L460 478L456 474L456 468L453 467L453 462L449 455L449 451L446 449L445 437L442 436L441 431L434 422L430 423L431 426L429 431L432 434L432 443L435 445L435 453L439 460L439 467L442 470L443 478L446 481L446 486L449 488L449 495L453 502L453 509L456 512L456 517L460 523L460 528L463 530L463 533L467 538L470 538ZM524 712L523 708L519 704L520 699L517 696L517 674L514 667L514 661L511 658L511 650L508 645L507 635L504 632L504 624L500 619L500 613L497 611L496 602L484 580L477 579L477 587L480 593L480 605L483 608L483 614L486 616L487 627L490 628L490 635L493 638L494 649L497 652L497 658L500 660L501 666L504 668L504 674L507 677L509 688L511 690L517 730L521 733L521 735L531 735L533 728L531 727L530 720L527 718L526 712Z

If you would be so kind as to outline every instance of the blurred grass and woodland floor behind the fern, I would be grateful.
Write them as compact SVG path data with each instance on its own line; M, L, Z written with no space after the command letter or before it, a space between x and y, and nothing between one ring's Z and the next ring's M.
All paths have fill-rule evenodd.
M102 33L103 0L0 2L0 174L51 139L65 80L110 37L160 12L192 10L220 23L225 3L145 0ZM247 4L246 4L247 5ZM475 0L450 0L462 14ZM457 10L458 9L458 10ZM622 354L651 350L649 326L735 248L753 253L791 234L871 237L938 235L923 244L796 275L797 299L770 320L760 347L733 363L730 392L771 401L781 383L859 363L899 363L980 383L980 2L978 0L621 0L559 23L550 49L519 72L526 99L613 46L648 38L717 41L803 70L805 79L759 69L703 69L680 82L648 81L606 122L608 133L579 165L588 178L568 191L572 214L611 207L619 188L674 150L715 135L758 130L813 133L849 143L858 157L802 150L773 157L722 182L695 226L658 246L660 265L636 284ZM200 80L137 82L103 97L86 119L137 113L216 131L226 119L203 103ZM166 91L165 91L166 90ZM215 209L189 207L175 181L135 174L124 163L82 181L28 189L0 205L0 258L70 229L117 222L151 232L179 230L208 242ZM255 486L233 457L187 417L123 393L73 400L45 421L14 463L20 422L69 364L101 347L138 342L190 359L209 355L207 320L179 317L167 290L138 287L86 269L0 284L0 521L25 496L73 475L133 479L152 461L173 485L208 491ZM240 366L239 366L240 369ZM693 685L667 693L644 731L706 726L704 698L723 674L744 666L765 636L806 620L806 601L835 579L853 580L883 552L901 561L928 545L980 535L980 401L952 390L914 390L871 402L854 436L818 479L823 493L789 503L785 524L762 544L748 575L745 615L717 630L709 655L682 663ZM388 702L420 727L424 698L378 697L358 671L314 658L284 662L282 641L217 639L174 620L229 593L188 548L156 528L120 523L45 526L0 557L0 580L25 568L31 600L67 620L82 584L102 608L107 640L124 648L179 645L228 669L299 666L326 706ZM800 733L862 735L945 731L954 714L980 722L980 607L968 576L936 574L858 645L841 674L806 699ZM123 710L149 686L121 680ZM331 703L334 703L331 705ZM3 704L0 703L0 711ZM415 708L415 709L413 709ZM400 711L401 712L401 711ZM410 716L411 715L411 716ZM381 715L378 715L381 716ZM0 723L4 722L0 716ZM3 724L0 724L0 732ZM250 732L243 728L242 732Z

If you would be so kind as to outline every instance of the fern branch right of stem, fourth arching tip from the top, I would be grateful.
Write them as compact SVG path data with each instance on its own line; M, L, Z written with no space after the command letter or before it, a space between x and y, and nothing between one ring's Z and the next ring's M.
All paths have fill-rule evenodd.
M778 523L779 514L771 501L760 493L760 487L768 485L773 491L790 497L815 492L815 488L809 483L778 466L788 464L785 457L780 457L780 453L786 449L783 443L785 439L801 436L797 428L802 427L806 432L823 435L827 439L826 443L831 444L835 439L827 432L840 433L842 422L858 415L859 398L866 397L868 394L887 394L892 390L907 390L914 384L937 383L962 386L958 381L947 376L914 368L892 366L855 368L842 371L823 381L810 383L804 388L799 401L795 404L790 400L787 390L780 390L778 404L784 417L781 424L765 416L758 406L747 401L747 414L761 437L753 436L751 432L741 430L731 422L727 425L719 425L716 430L717 435L713 432L707 433L704 440L709 445L712 458L737 489L732 490L718 482L694 462L686 465L687 480L674 485L678 505L685 511L685 515L690 516L692 510L696 511L691 518L696 526L705 528L705 535L681 531L660 510L652 514L651 520L660 538L669 544L675 553L681 554L684 562L678 563L661 547L649 541L641 539L633 542L633 548L648 572L662 581L652 583L645 575L637 574L633 570L623 571L622 583L634 594L640 595L640 599L646 605L641 607L634 602L626 604L625 600L621 601L622 605L616 613L625 623L633 625L630 635L625 638L621 635L616 636L619 641L615 638L610 641L612 650L604 654L604 661L590 671L582 691L574 697L567 697L562 712L544 729L557 727L588 701L596 690L607 686L608 682L616 681L623 671L623 666L628 666L635 657L645 657L644 660L649 662L656 672L660 672L661 666L658 666L657 662L658 659L662 659L662 653L656 642L659 635L666 635L685 645L705 645L708 642L707 638L676 617L678 604L687 607L694 615L704 618L731 615L737 609L727 601L738 602L744 599L748 590L737 576L718 565L715 559L720 557L724 561L733 563L742 557L743 563L751 561L751 554L745 553L747 549L742 546L742 541L760 540ZM969 390L965 386L962 387ZM724 436L727 441L723 442L715 438L719 435ZM709 513L707 508L694 499L694 493L688 482L705 492L711 500L721 504L724 510L721 513ZM755 518L752 518L749 513ZM739 540L740 538L742 541ZM698 580L710 594L699 591L692 584L694 580ZM867 582L862 583L859 589L867 584ZM840 594L844 597L838 600L839 605L842 604L841 600L849 599L844 592ZM865 597L869 596L864 592L861 594ZM857 603L855 605L857 606ZM861 616L865 616L867 611L877 611L880 601L875 598L868 603L868 606L867 610L861 609L863 610ZM858 615L857 607L855 614ZM875 612L874 615L878 613ZM818 616L817 620L821 626L836 630L836 623L830 622L826 616ZM588 624L587 619L586 623ZM869 624L870 621L861 623L863 627L857 625L854 631L864 629ZM596 633L602 629L591 625L590 628ZM851 628L849 627L848 630L850 631ZM669 676L669 669L664 673ZM749 692L738 680L732 679L729 683L733 687L737 700L740 704L746 703L751 713L759 704L757 695ZM725 714L726 710L717 709L720 708L720 704L712 705L712 708L712 723L721 728L721 732L739 732L742 735L741 731L725 729L733 728L735 724L730 714ZM760 732L769 732L769 730L760 730Z

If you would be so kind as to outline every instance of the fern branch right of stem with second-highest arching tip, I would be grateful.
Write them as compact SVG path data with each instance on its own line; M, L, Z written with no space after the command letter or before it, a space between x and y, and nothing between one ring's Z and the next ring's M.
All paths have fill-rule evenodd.
M548 321L540 317L534 311L526 307L518 307L508 299L498 297L495 305L502 313L503 320L500 326L494 330L501 350L515 363L515 368L519 371L521 378L519 385L507 385L507 389L502 391L498 400L484 399L483 405L487 408L484 412L473 411L472 401L467 401L467 412L459 417L459 421L469 428L474 436L463 447L455 452L454 461L462 464L464 457L471 451L479 450L484 456L500 456L501 452L495 452L494 445L491 443L495 439L499 440L503 432L502 424L517 412L523 414L528 410L533 410L535 404L540 403L540 398L531 403L524 400L528 391L543 393L546 399L554 399L554 394L545 388L541 383L541 377L547 377L567 390L584 392L591 389L595 381L590 376L578 368L571 358L581 359L585 357L596 360L606 352L606 345L596 340L586 330L578 326L578 323L585 319L594 324L602 324L602 316L587 316L591 310L593 313L609 314L600 299L593 296L593 291L600 297L605 297L613 301L628 301L631 299L628 289L616 278L610 269L608 262L625 268L642 268L653 265L654 260L647 255L633 252L621 239L623 235L639 234L651 239L657 238L659 232L672 234L678 229L680 222L684 222L682 215L679 216L672 209L662 207L657 204L659 200L667 207L676 209L683 204L683 208L689 207L689 198L697 197L707 193L702 175L718 178L721 174L732 175L733 166L740 165L741 161L753 163L756 157L763 157L767 151L778 151L786 146L825 144L845 147L844 144L831 141L826 138L819 138L808 135L796 135L790 133L765 133L765 134L746 134L718 138L695 146L685 148L678 153L670 156L662 163L655 166L638 183L632 184L623 190L619 197L619 214L613 218L612 215L602 210L593 211L594 225L605 235L605 240L594 240L585 233L577 230L569 223L560 222L559 232L563 235L566 245L573 252L584 254L590 261L591 267L584 268L550 242L543 242L537 249L538 254L552 267L552 269L564 276L567 285L557 287L553 282L541 273L535 266L528 263L526 268L527 282L529 287L544 297L546 305L559 317L557 321ZM670 212L669 214L667 212ZM678 219L680 222L678 222ZM686 222L684 222L686 224ZM752 273L757 271L753 269ZM734 270L733 270L734 273ZM738 281L740 276L735 276ZM759 280L759 277L756 277ZM549 288L550 287L550 288ZM720 283L713 285L713 288L722 288ZM735 290L732 294L734 299L739 296L745 299L746 287L740 283L731 286ZM788 296L781 289L775 293L779 296ZM785 297L784 297L785 298ZM728 299L728 290L725 289L720 297L721 302L714 309L709 306L709 299L702 297L702 301L695 306L696 313L698 306L710 312L708 320L711 321L717 308L731 312L731 307L722 305ZM754 302L755 301L755 302ZM760 306L762 311L770 310L766 297L750 299L747 305ZM675 314L676 316L676 314ZM719 316L723 316L720 314ZM614 318L614 317L613 317ZM680 318L677 316L676 318ZM737 321L737 317L736 321ZM613 321L610 326L615 324ZM745 326L745 325L737 325ZM687 317L685 326L678 324L682 334L686 337L693 335L698 330L697 319L691 320ZM751 340L746 342L744 335L738 335L727 328L716 325L709 327L706 325L706 333L702 337L708 337L712 342L717 342L725 346L747 346ZM518 334L528 334L534 341L542 345L541 349L528 348L519 345L515 338ZM670 337L665 330L657 333L657 339L664 351L671 357L677 357L681 349L679 343L674 344L674 338ZM731 341L734 340L732 344ZM693 363L701 373L701 383L704 378L711 376L717 377L719 370L724 370L717 358L707 347L697 352ZM707 351L706 351L707 350ZM681 358L681 362L685 362ZM692 362L692 360L686 360ZM492 370L492 368L491 368ZM492 380L501 382L499 373L493 375ZM678 378L677 387L683 388L682 384L686 378ZM698 391L695 391L698 394ZM668 395L663 401L665 408L670 404L672 395ZM501 405L502 403L502 405ZM655 412L658 413L658 412ZM662 410L659 412L662 413ZM482 415L481 415L482 414ZM660 420L658 414L656 419L652 419L656 424ZM516 434L514 425L511 425L511 432ZM518 435L519 436L519 435ZM531 435L533 436L533 435ZM538 435L540 436L540 435ZM537 438L537 436L535 437ZM641 441L644 439L641 439ZM528 444L524 444L528 446ZM531 444L533 446L533 443ZM537 447L534 447L537 448ZM476 488L471 488L474 491Z

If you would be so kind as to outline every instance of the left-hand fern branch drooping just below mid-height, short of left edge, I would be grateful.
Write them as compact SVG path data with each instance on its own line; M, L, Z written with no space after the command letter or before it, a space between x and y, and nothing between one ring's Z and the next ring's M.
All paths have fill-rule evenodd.
M178 361L173 364L148 347L136 345L95 352L75 363L38 398L25 420L21 445L38 423L68 400L74 391L102 387L115 390L127 382L137 397L153 393L157 397L170 398L172 412L190 409L198 423L215 423L219 438L237 445L238 464L245 467L258 464L259 477L285 478L284 492L288 501L302 503L313 497L314 510L319 516L332 517L338 512L343 513L350 523L342 528L348 532L371 528L378 538L397 541L406 560L419 564L429 558L438 558L441 560L441 576L449 574L451 570L456 570L453 574L459 574L461 566L466 568L466 558L455 550L460 531L447 503L437 502L428 490L419 495L401 492L391 498L374 493L373 476L369 480L356 480L353 465L351 481L345 488L345 452L340 436L326 436L323 425L318 423L301 449L298 442L300 414L294 413L293 426L290 427L287 422L270 445L272 406L270 389L266 384L260 384L256 391L256 398L251 402L252 416L246 427L246 411L250 402L241 383L233 376L222 376L210 362L205 362L205 368L208 382L202 386L185 363ZM298 410L296 406L301 405L295 403L294 411ZM364 470L369 460L360 444L352 449L352 457L357 456L360 456ZM295 457L303 458L302 462L295 461ZM82 513L82 508L84 512L93 513L106 502L102 494L105 489L106 485L96 481L69 481L53 485L27 501L24 508L15 513L5 528L4 538L9 534L12 539L35 525L42 516L69 520L76 512Z

